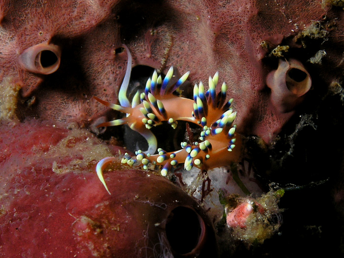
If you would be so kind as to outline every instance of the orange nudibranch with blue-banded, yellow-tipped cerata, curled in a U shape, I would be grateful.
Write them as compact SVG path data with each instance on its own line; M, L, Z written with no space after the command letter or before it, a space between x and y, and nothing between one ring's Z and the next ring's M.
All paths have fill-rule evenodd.
M234 137L236 125L233 121L236 112L233 112L230 107L233 99L226 101L226 83L223 83L221 91L216 93L219 79L217 72L213 78L209 77L209 89L206 92L200 82L199 85L194 86L193 99L187 99L180 96L179 86L186 81L188 75L189 72L185 73L173 84L171 82L173 67L169 69L164 79L154 71L152 77L147 80L144 92L138 91L130 106L111 104L94 97L105 106L126 114L123 118L99 124L98 127L127 124L131 129L143 135L149 144L148 151L137 150L134 157L125 153L121 161L123 164L133 166L137 163L144 170L148 169L149 164L160 165L162 166L161 174L166 176L172 167L180 163L184 163L184 169L187 171L194 166L206 171L230 165L231 162L238 160L240 147L233 151L235 145L240 144L238 143L240 139ZM126 89L120 91L120 94L125 91ZM126 92L120 98L120 102L130 103L126 98ZM181 149L172 152L158 148L158 154L153 155L156 149L156 138L150 128L167 121L175 129L178 120L199 125L202 128L200 141L190 144L182 142ZM98 177L108 192L103 178L103 169L115 159L115 157L104 158L96 167Z

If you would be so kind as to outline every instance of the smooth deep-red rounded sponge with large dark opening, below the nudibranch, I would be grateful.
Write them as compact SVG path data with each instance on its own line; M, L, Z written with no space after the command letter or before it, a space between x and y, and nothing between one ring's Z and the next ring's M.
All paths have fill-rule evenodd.
M114 163L109 195L95 164L118 150L86 130L32 120L0 131L0 256L216 256L205 212L166 178Z

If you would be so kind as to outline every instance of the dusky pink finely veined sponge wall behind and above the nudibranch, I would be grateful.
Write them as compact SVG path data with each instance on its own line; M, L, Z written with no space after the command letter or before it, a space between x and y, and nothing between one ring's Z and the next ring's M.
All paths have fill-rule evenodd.
M127 65L165 73L173 65L182 74L190 71L192 84L219 71L234 98L238 132L269 143L293 110L281 114L271 103L266 75L277 67L265 58L275 47L287 45L287 54L307 64L310 76L313 66L315 74L331 83L335 71L327 67L343 66L335 52L343 49L343 32L334 26L343 22L330 7L318 0L3 0L0 81L11 77L18 83L23 103L35 99L21 107L23 117L87 127L107 112L92 96L116 103ZM317 45L321 41L326 44ZM44 52L37 50L42 44ZM123 44L132 63L127 63ZM326 53L331 65L318 69L321 58L311 59L318 51Z

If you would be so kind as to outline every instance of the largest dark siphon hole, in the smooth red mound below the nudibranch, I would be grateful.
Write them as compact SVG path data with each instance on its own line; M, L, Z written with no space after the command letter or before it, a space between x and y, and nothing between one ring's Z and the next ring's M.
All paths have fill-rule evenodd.
M181 255L190 253L197 246L201 231L198 214L187 207L173 209L166 223L166 235L172 250Z

